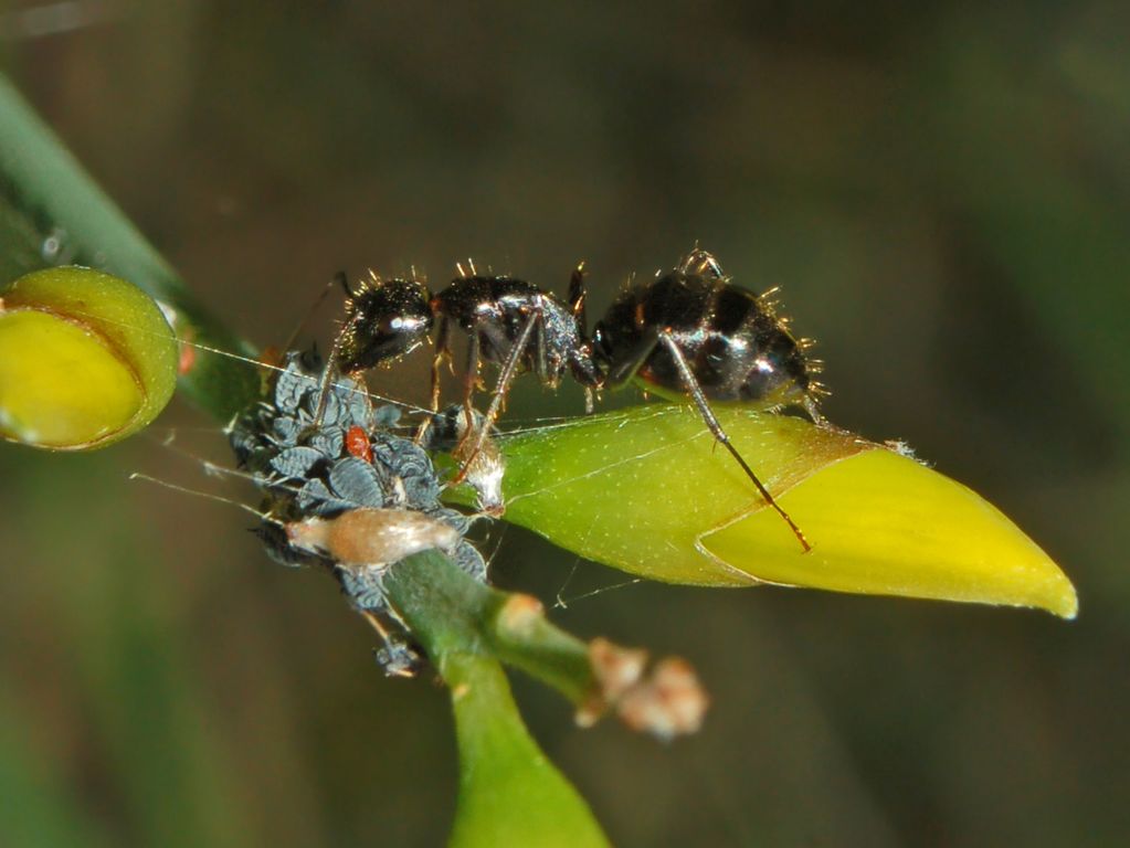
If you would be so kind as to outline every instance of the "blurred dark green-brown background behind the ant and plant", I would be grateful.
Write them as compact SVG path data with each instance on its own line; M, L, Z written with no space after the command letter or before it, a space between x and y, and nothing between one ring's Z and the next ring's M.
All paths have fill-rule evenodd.
M1128 43L1113 2L0 5L0 67L255 342L339 269L442 285L470 255L563 292L585 259L599 314L697 239L784 287L834 421L905 438L1075 580L1070 623L624 586L492 530L501 584L687 656L714 697L662 746L516 681L624 846L1130 839ZM425 359L374 388L419 400ZM580 412L524 383L511 419ZM442 690L382 679L246 515L128 482L251 500L177 453L226 461L211 421L155 432L0 445L0 841L441 843Z

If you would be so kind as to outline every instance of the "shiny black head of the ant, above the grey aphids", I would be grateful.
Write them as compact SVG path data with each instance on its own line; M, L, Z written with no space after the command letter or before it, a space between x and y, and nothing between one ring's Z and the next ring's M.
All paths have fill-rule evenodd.
M357 371L417 348L432 330L431 295L418 280L372 279L349 295L337 365Z

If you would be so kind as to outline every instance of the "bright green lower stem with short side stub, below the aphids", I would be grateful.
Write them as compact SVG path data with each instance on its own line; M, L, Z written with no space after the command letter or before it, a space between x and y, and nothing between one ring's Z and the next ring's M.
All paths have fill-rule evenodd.
M533 598L476 583L434 551L399 562L384 588L451 692L460 776L450 843L607 846L525 729L499 664L580 702L592 684L584 642L546 621Z

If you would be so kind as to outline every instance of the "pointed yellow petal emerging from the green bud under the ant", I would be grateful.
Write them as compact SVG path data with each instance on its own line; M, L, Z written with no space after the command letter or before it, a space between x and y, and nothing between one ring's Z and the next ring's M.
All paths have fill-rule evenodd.
M780 518L765 509L704 533L702 549L770 583L1077 612L1070 580L1003 513L886 448L825 466L781 502L809 553L766 526Z

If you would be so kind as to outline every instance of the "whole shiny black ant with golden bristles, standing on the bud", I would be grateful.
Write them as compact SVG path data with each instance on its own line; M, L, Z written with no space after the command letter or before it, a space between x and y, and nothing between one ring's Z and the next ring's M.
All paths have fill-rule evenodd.
M476 442L462 452L457 481L485 444L520 370L533 371L549 386L571 370L585 388L586 412L592 411L593 391L636 382L659 395L689 395L714 438L810 550L800 527L730 443L710 401L744 401L770 410L799 405L819 422L817 401L824 388L812 379L819 364L806 356L811 342L793 338L786 320L776 316L773 292L758 296L730 282L710 253L696 247L673 271L629 286L591 336L585 331L583 263L571 278L567 305L523 280L479 276L473 265L470 273L460 266L460 277L434 295L415 279L382 281L375 274L356 291L346 290L347 318L331 355L342 371L399 358L438 322L432 366L432 409L437 410L440 367L450 357L454 323L469 339L463 405L470 422L480 362L501 366Z

